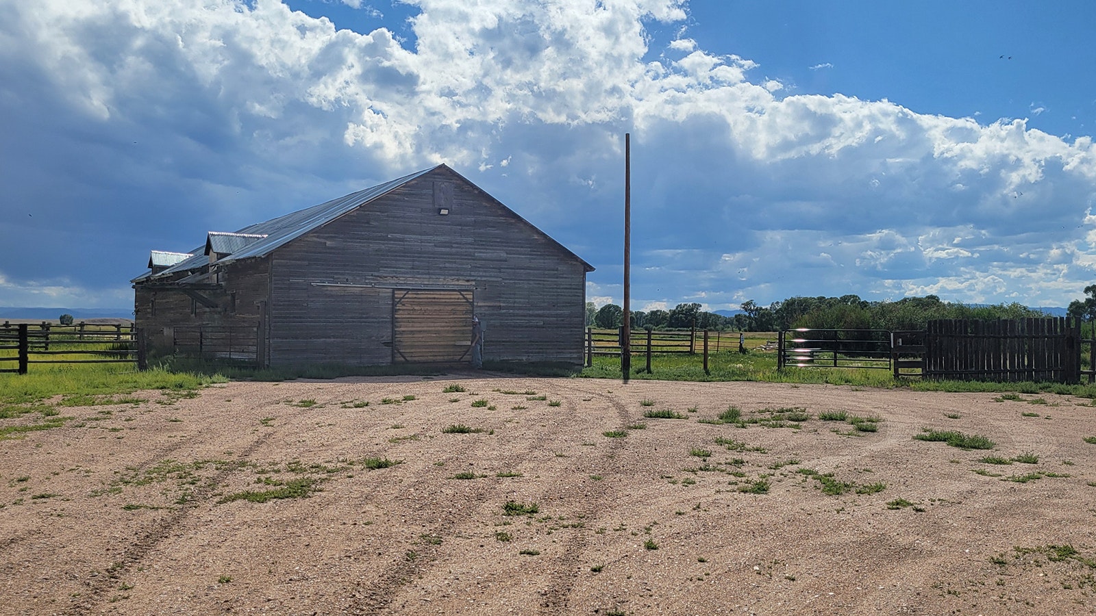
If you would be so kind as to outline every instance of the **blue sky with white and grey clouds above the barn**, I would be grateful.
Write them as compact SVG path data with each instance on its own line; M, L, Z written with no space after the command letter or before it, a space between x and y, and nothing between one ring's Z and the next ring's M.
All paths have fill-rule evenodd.
M201 4L201 5L199 5ZM446 162L632 306L1096 272L1096 3L0 0L0 305Z

